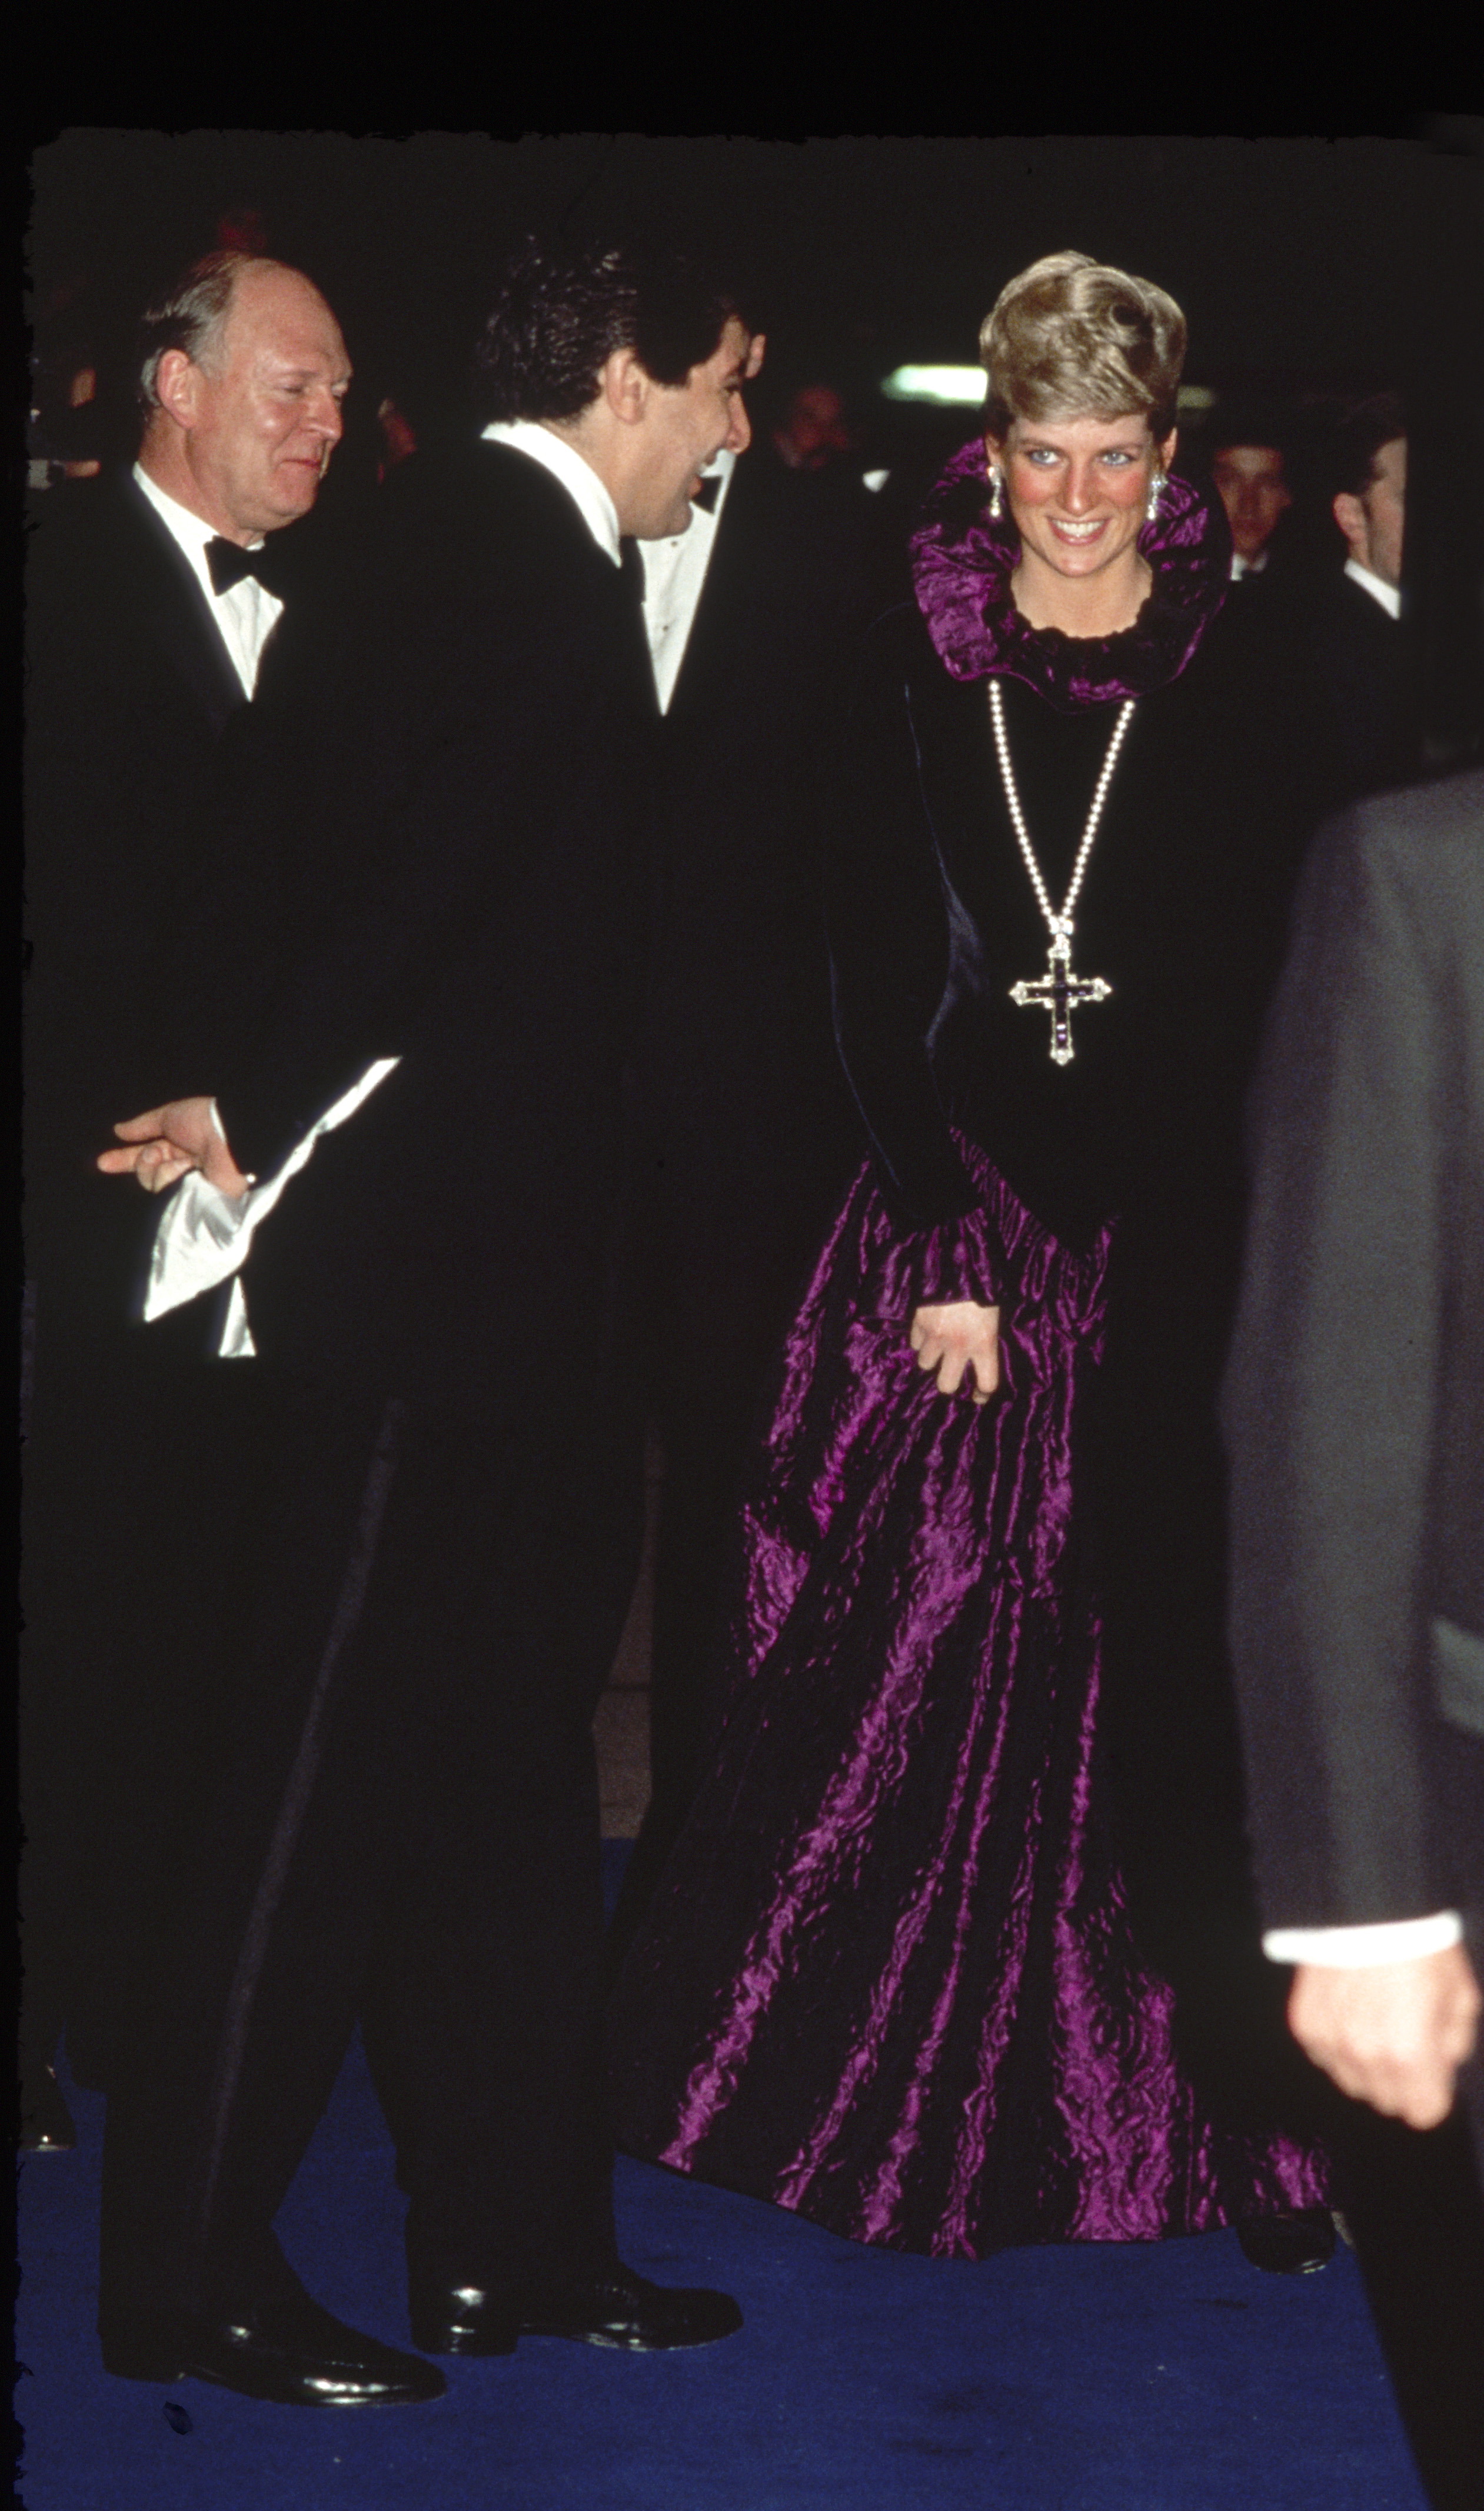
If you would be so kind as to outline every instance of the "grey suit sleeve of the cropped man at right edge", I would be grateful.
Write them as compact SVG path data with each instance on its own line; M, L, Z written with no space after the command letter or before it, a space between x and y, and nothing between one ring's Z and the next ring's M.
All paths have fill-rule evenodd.
M1271 1926L1476 1896L1484 1843L1484 776L1308 864L1228 1371L1233 1660Z

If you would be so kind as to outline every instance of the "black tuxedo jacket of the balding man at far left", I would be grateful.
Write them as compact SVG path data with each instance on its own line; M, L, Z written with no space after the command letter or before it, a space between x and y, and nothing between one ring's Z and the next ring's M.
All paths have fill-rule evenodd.
M128 475L48 492L25 595L28 1263L116 1326L151 1228L93 1158L161 1092L183 911L221 864L213 793L249 706Z

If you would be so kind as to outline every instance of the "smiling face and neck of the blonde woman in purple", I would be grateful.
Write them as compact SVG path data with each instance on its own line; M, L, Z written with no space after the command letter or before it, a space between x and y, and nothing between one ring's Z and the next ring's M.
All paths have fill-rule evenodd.
M1067 610L1092 618L1127 608L1132 620L1148 585L1137 537L1150 482L1175 437L1155 444L1143 417L1012 419L1004 442L987 444L1019 532L1014 598L1027 618L1065 625Z

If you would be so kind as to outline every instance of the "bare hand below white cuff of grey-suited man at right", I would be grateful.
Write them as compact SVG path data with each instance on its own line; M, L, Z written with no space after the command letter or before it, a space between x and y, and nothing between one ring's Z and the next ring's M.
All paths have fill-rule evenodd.
M1461 1944L1363 1971L1301 1961L1288 2029L1341 2092L1409 2127L1436 2127L1454 2107L1481 2004Z

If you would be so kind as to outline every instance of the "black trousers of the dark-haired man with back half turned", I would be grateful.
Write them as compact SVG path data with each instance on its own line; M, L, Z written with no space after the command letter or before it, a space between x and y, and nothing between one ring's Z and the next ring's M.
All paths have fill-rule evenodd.
M364 2021L414 2267L613 2252L590 1720L643 1527L635 1409L500 1421L216 1363L136 1597L143 1913L110 2054L103 2310L251 2280ZM178 1454L173 1489L181 1487Z

